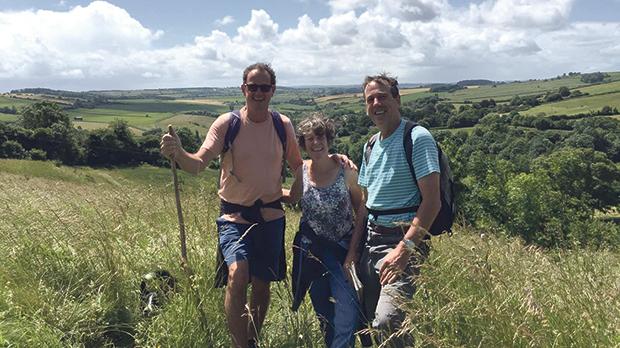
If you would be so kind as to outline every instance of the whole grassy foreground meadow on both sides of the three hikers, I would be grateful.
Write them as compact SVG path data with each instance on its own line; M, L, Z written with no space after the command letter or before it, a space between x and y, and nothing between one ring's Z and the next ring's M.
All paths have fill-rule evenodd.
M188 235L179 264L170 171L0 160L0 346L228 347L214 289L216 172L181 174ZM287 212L287 256L299 214ZM620 345L620 254L542 250L457 227L434 238L403 334L424 347ZM179 291L141 313L141 276L169 270ZM321 347L309 300L292 313L273 285L261 347Z

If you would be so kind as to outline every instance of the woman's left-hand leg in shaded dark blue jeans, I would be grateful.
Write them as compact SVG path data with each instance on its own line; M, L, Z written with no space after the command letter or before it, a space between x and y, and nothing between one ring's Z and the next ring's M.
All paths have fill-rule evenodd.
M324 274L314 280L309 292L312 307L319 319L325 346L330 347L334 339L334 304L330 301L329 275Z

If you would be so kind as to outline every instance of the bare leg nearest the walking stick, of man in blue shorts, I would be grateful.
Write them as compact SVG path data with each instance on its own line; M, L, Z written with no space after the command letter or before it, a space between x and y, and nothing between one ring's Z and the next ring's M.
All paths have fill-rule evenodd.
M235 347L247 347L248 316L245 309L246 289L249 280L247 261L237 261L228 265L228 283L224 298L224 310L228 330Z

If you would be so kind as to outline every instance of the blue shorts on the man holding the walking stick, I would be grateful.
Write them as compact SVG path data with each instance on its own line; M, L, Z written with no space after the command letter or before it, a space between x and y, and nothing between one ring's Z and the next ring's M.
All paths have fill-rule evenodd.
M286 270L281 269L280 260L284 255L284 217L254 225L249 231L252 224L230 222L222 217L216 223L226 265L247 260L250 276L265 281L283 279Z

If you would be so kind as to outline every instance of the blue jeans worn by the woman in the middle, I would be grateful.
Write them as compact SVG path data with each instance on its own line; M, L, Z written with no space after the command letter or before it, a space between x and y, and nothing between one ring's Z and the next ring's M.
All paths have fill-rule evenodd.
M335 253L324 251L318 257L327 272L310 287L312 306L319 317L326 346L353 347L360 313L357 295Z

